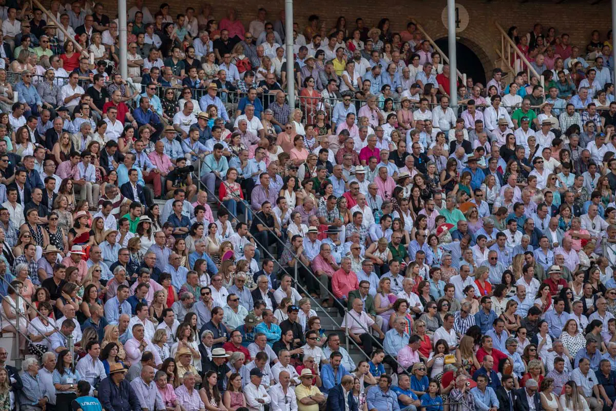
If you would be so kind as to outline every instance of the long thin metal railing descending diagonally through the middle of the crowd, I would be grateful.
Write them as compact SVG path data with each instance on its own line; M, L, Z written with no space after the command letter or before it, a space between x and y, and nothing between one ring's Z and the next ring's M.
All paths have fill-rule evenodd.
M202 188L204 188L206 190L206 192L208 193L208 197L211 195L212 198L216 198L216 202L219 206L222 206L231 216L233 216L233 218L237 218L237 216L235 216L233 213L231 213L231 211L229 210L229 208L227 208L227 206L225 206L222 201L218 200L218 198L216 197L216 193L211 192L211 190L208 189L208 187L203 184L203 182L201 182L201 161L198 164L198 168L197 168L197 173L198 173L198 183L197 185L201 186ZM194 182L194 180L193 180ZM246 205L249 206L249 205ZM267 227L267 224L265 224L265 221L263 221L261 218L259 218L257 213L253 213L253 219L258 219L264 226ZM254 238L254 237L253 237ZM310 299L315 306L320 307L320 303L317 301L317 299L314 298L314 296L310 295L309 290L307 290L306 287L304 287L304 285L302 285L301 283L299 283L299 278L298 278L298 262L299 264L301 264L302 267L304 267L304 269L306 269L306 271L308 272L308 274L317 282L319 283L320 280L314 275L314 273L312 273L312 271L310 270L310 268L308 266L306 266L306 264L304 264L304 262L301 261L301 259L296 258L295 259L295 266L294 266L294 272L293 274L291 274L288 269L286 269L286 267L283 267L282 264L280 264L279 259L275 258L275 256L270 253L269 248L267 245L261 244L258 242L258 240L256 238L254 238L254 242L259 245L261 247L262 250L264 250L264 252L269 256L269 258L272 259L272 261L278 261L278 265L280 266L280 268L282 269L282 272L284 274L288 274L291 275L291 277L294 279L295 285L296 287L301 288L302 291L304 291L304 294L306 295L306 298ZM287 245L288 243L284 243L282 241L282 239L278 242L278 244L282 244L282 248L288 251L291 251L291 253L293 254L294 251ZM277 246L278 251L280 253L280 255L282 256L282 252L280 252L281 248L280 246ZM328 288L325 288L327 295L329 296L329 298L333 299L333 301L338 301L338 298L336 298L335 295L333 295L333 293L328 290ZM339 303L341 304L341 303ZM335 305L335 304L334 304ZM341 304L342 305L342 304ZM373 340L373 343L377 344L377 346L383 346L383 344L381 342L379 342L378 340L376 340L375 336L372 335L371 330L367 329L365 327L363 327L363 324L361 324L359 322L359 319L355 316L354 311L353 310L349 310L347 309L347 307L342 306L344 309L344 316L342 317L342 319L344 319L344 317L348 314L350 315L354 320L356 324L359 324L360 327L365 330L365 332L370 336L371 340ZM337 308L336 308L337 309ZM331 317L331 315L326 311L323 310L323 312L325 313L325 315L327 315L327 317L331 320L331 322L333 322L333 324L337 325L339 328L342 328L340 324L338 324L338 322L336 322L336 320L333 319L333 317ZM359 351L361 352L361 354L363 354L363 356L365 356L368 360L370 360L370 356L368 356L368 354L363 351L362 346L360 346L359 343L357 343L357 341L353 340L352 338L350 338L349 335L349 325L347 325L347 327L345 327L345 338L346 338L346 347L347 347L347 352L349 351L349 341L351 341L351 343L357 348L359 349ZM392 357L393 358L393 357ZM405 370L406 368L402 366L402 364L400 364L398 362L397 359L393 358L394 361L396 362L396 364L403 370ZM395 372L397 372L397 370L395 370Z

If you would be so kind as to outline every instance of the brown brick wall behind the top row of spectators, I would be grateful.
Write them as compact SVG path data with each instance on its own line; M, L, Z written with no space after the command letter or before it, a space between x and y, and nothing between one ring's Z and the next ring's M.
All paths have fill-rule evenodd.
M113 1L103 0L109 7L108 10L117 10L117 5ZM128 0L128 8L132 7L132 1ZM145 4L154 13L158 10L158 5L162 1L145 0ZM521 3L519 1L484 0L460 1L469 13L468 27L458 33L460 41L476 52L479 59L484 64L486 72L494 67L497 59L494 47L500 47L500 36L494 22L507 30L511 25L517 25L520 33L532 30L535 22L543 24L547 30L549 26L556 27L556 33L566 31L571 36L572 44L585 47L590 39L590 32L593 29L601 31L601 36L607 33L611 26L611 7L609 2L602 2L596 6L591 6L589 0L583 0L582 6L567 3L551 4L549 0L545 2L530 1ZM183 12L185 7L192 6L200 11L203 2L197 0L187 0L181 2L181 6L175 2L171 4L171 14ZM265 7L268 10L268 19L276 20L278 12L284 8L284 1L255 1L255 0L225 0L224 2L211 1L213 14L216 18L224 17L226 7L233 6L238 11L240 18L245 26L256 16L258 7ZM335 4L334 11L332 4ZM378 4L378 6L375 6ZM383 7L384 4L392 4L390 7ZM447 2L434 1L402 1L389 0L387 2L365 0L294 0L295 22L300 26L307 25L307 17L310 14L318 14L328 27L336 22L339 15L347 18L347 26L352 27L355 18L362 17L368 26L375 26L381 17L388 17L391 20L392 29L395 31L405 30L408 18L415 18L433 39L447 36L447 28L440 18L442 10L447 6ZM399 10L402 10L400 12ZM583 11L584 23L581 22L580 12ZM113 13L109 13L113 14ZM489 78L489 77L488 77Z

